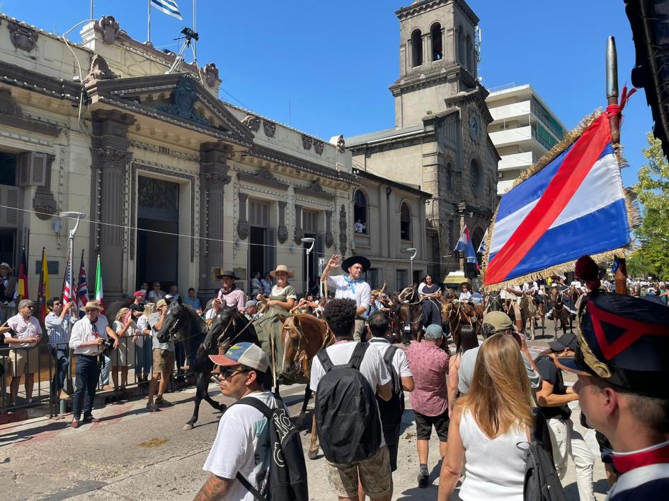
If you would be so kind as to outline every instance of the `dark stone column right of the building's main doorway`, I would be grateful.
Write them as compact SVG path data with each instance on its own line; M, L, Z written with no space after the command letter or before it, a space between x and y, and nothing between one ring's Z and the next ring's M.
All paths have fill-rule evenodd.
M221 143L200 145L200 285L198 294L210 297L219 288L212 268L223 266L223 196L228 147Z

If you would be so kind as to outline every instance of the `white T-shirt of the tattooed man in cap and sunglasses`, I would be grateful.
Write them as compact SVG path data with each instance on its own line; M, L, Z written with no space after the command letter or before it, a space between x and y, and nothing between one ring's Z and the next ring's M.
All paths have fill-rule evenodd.
M258 391L248 396L260 400L271 409L279 405L270 391ZM239 471L248 483L263 493L270 471L269 431L267 418L256 408L230 406L221 416L216 440L202 469L222 478L235 478ZM226 495L220 499L254 501L253 495L237 480L232 482Z

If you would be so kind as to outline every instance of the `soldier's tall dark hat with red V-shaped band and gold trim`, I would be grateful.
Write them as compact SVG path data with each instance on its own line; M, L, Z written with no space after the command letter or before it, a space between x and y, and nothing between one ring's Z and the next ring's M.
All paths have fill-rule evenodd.
M595 290L578 307L576 335L575 355L557 359L564 370L669 399L669 307Z

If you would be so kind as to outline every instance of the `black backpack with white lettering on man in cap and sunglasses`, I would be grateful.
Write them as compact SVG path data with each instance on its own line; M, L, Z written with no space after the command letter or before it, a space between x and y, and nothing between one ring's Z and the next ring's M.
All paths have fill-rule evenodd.
M299 430L290 420L290 415L283 406L272 410L253 396L239 399L232 405L236 406L239 403L256 408L268 418L272 459L267 495L263 496L259 493L239 471L236 475L237 480L258 501L308 501L307 464L304 461L304 452L302 452L302 440L299 437Z

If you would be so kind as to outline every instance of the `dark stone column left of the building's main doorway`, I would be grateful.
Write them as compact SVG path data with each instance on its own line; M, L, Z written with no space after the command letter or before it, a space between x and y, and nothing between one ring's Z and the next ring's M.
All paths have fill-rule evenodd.
M132 159L128 151L128 127L135 117L117 110L96 110L91 114L91 219L96 221L91 235L93 249L100 254L105 300L109 304L125 293L125 170ZM95 269L91 253L90 269Z

